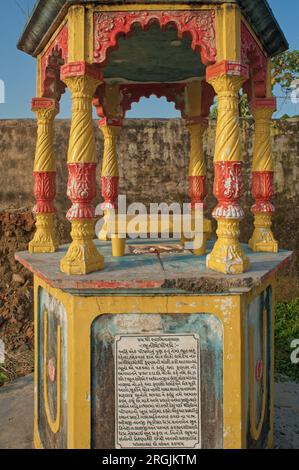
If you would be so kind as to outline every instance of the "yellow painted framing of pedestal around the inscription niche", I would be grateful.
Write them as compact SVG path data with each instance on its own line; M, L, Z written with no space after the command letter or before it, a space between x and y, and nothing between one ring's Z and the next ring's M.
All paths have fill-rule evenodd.
M102 295L76 296L60 289L49 287L45 281L35 276L35 433L34 445L42 449L39 426L39 397L38 397L38 299L40 288L46 289L49 295L57 299L65 308L67 318L67 368L62 372L67 374L67 448L90 449L91 443L91 328L94 320L100 315L132 314L138 311L147 321L147 315L153 312L159 314L199 314L209 312L218 318L223 327L223 446L225 449L242 449L246 447L248 419L245 401L246 367L244 366L246 351L246 321L249 305L268 286L275 286L272 276L263 285L249 293L238 294L206 294L192 295L149 295L123 296ZM275 302L275 301L273 301ZM272 330L273 331L273 324ZM271 339L271 342L273 338ZM252 345L251 345L252 346ZM272 348L273 350L273 348ZM254 364L255 366L255 364ZM253 365L251 365L251 368ZM271 372L274 372L274 358L271 357ZM273 381L271 387L270 408L273 410ZM232 399L232 397L234 397ZM252 419L252 417L251 417ZM273 412L271 412L271 421ZM50 429L50 427L49 427ZM271 422L267 438L267 447L273 443L273 423Z

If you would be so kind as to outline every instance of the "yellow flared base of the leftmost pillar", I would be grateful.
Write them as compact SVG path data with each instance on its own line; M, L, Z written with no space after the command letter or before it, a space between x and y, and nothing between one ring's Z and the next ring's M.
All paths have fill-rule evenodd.
M37 214L36 232L29 243L29 253L55 253L58 247L54 231L54 214Z

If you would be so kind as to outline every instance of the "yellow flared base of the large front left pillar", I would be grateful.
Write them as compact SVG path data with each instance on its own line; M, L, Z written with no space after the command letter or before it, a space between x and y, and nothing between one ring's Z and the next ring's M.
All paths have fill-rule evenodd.
M104 269L104 257L93 242L93 233L94 220L72 221L73 242L60 263L63 273L82 275Z

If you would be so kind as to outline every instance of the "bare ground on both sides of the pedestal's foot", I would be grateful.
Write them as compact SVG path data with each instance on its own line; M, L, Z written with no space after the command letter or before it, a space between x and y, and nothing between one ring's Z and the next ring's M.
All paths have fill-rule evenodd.
M275 386L275 437L277 449L299 449L299 385ZM33 436L33 376L0 389L0 449L31 449Z

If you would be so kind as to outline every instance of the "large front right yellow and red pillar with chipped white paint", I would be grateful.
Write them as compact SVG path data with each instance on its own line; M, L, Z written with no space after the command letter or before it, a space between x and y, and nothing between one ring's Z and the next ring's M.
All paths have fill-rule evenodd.
M214 158L214 195L218 205L213 211L218 222L218 239L207 256L207 267L224 274L240 274L249 267L238 240L239 224L244 217L238 202L243 167L238 92L247 75L247 67L235 62L223 61L207 69L207 80L218 95Z

